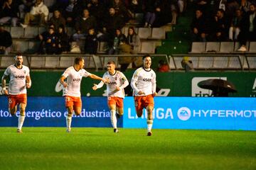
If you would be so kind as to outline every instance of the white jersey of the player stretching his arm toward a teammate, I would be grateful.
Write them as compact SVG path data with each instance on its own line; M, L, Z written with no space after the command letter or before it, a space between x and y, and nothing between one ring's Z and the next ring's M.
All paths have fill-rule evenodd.
M68 67L68 69L65 70L63 73L63 77L66 77L66 82L68 84L67 87L63 89L63 96L74 96L74 97L80 97L80 86L82 77L88 77L91 74L85 69L80 69L79 71L76 71L75 68Z

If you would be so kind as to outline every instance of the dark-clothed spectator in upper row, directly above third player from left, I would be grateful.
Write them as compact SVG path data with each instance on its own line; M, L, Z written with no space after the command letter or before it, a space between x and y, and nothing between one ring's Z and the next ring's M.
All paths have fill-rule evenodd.
M113 40L117 28L122 29L123 26L124 21L122 20L122 17L115 13L113 7L110 7L109 14L106 16L103 22L103 33L107 34L109 40Z

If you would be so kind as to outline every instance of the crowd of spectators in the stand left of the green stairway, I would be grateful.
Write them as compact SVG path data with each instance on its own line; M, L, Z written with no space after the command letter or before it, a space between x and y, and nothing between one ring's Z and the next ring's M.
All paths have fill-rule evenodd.
M132 27L127 37L122 34L125 23L133 22L136 13L144 13L144 27L175 24L177 13L182 13L186 7L186 0L55 0L52 6L46 6L43 0L3 0L0 6L0 24L48 29L38 35L41 40L38 53L69 52L70 47L78 47L71 42L79 44L83 38L82 51L88 54L97 52L98 41L108 42L109 54L128 51L136 54L139 37ZM65 33L67 27L75 29L70 38ZM124 44L129 47L124 48Z

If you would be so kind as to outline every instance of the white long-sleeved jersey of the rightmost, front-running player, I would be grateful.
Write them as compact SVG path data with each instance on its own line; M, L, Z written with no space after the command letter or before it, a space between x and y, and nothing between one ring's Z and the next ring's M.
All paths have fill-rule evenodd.
M137 69L131 81L134 96L147 96L156 92L156 73L153 69L146 70L144 67ZM139 95L142 91L144 94Z

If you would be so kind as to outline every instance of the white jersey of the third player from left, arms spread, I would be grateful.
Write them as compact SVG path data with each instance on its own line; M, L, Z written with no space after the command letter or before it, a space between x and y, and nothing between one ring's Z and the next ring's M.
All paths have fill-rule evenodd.
M103 74L103 79L110 79L110 83L107 84L107 96L115 96L119 98L124 98L124 88L129 85L127 78L122 74L122 72L115 71L114 74L105 72ZM100 81L100 84L97 84L97 89L101 88L104 85L103 81ZM117 86L120 90L117 91Z

